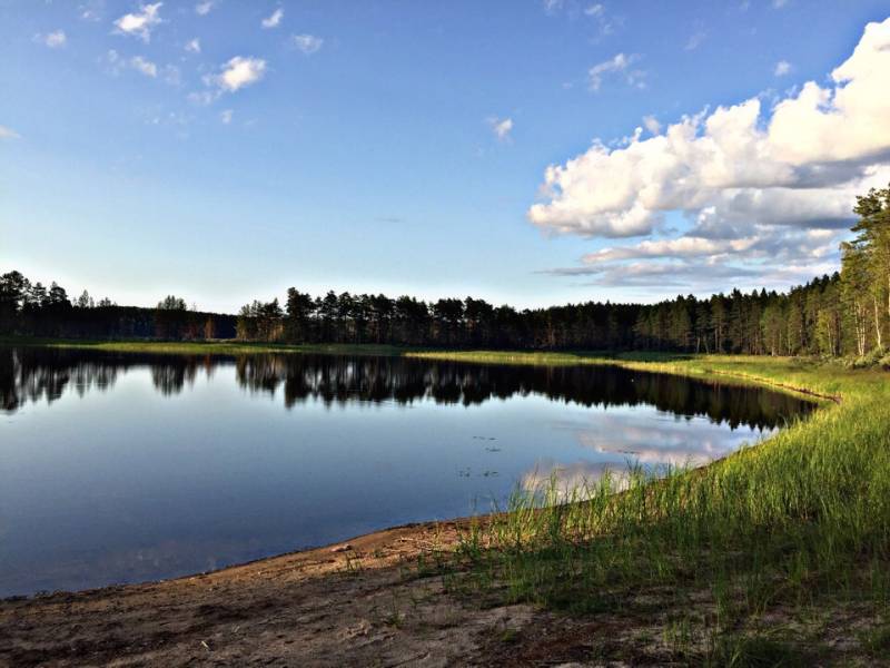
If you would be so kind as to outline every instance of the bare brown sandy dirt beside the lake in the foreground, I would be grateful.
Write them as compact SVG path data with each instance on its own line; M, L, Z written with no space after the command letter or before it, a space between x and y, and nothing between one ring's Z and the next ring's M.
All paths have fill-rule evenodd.
M0 666L689 665L663 641L666 610L629 623L449 593L416 558L453 547L458 524L389 529L177 580L0 601ZM873 665L837 649L846 657L837 665Z

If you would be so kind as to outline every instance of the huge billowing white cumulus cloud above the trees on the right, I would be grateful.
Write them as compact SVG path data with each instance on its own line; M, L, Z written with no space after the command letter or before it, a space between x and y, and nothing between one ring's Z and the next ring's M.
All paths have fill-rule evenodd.
M890 180L888 71L890 19L866 27L824 87L809 81L772 109L759 98L718 107L663 132L647 122L650 138L637 129L623 145L596 140L550 166L544 200L528 210L544 230L631 237L665 234L672 212L689 222L676 238L605 248L555 272L657 285L683 267L693 277L732 262L729 271L789 278L830 267L856 195Z

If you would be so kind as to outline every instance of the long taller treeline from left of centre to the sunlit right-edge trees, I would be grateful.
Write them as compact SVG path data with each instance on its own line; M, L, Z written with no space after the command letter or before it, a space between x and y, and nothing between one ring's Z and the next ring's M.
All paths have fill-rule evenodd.
M840 273L788 293L739 289L654 305L587 302L518 312L483 299L353 295L290 288L241 308L237 335L289 343L653 350L753 355L880 355L890 336L890 188L857 198Z

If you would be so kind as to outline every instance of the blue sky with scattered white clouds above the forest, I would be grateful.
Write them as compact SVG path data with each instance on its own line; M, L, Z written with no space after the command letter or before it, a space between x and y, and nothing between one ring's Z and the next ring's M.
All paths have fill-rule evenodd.
M837 264L852 194L888 180L890 130L870 122L888 16L0 0L0 267L220 311L290 285L517 306L785 287ZM829 98L808 107L807 81ZM684 115L705 157L669 139ZM873 141L839 153L823 121Z

